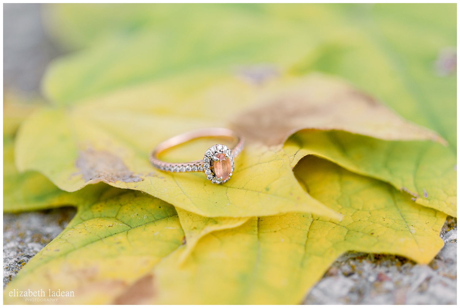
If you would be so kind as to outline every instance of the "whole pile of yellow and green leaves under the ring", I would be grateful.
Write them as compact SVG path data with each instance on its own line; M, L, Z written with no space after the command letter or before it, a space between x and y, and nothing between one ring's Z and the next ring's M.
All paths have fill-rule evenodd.
M49 66L46 103L5 102L4 211L77 213L5 303L295 304L346 251L429 263L443 247L454 4L50 5L46 21L73 51ZM230 181L150 166L202 127L247 138Z

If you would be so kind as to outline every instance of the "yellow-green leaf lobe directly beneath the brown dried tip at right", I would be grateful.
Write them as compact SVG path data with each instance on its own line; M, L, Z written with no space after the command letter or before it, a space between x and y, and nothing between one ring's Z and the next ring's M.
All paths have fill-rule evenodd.
M438 143L304 130L289 138L284 151L293 167L306 155L324 157L355 173L388 182L421 205L457 217L456 159Z

